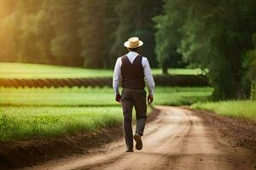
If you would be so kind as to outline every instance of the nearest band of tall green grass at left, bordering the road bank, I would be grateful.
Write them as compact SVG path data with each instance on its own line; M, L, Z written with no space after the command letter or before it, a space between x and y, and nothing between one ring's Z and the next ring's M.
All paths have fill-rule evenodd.
M0 141L91 132L122 120L120 107L1 107Z

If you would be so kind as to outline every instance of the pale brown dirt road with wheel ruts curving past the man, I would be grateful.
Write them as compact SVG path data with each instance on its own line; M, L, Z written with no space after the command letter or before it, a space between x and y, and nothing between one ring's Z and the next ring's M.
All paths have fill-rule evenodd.
M218 137L192 111L159 106L160 116L148 123L143 150L124 153L123 140L73 156L26 169L256 169L256 156L232 147Z

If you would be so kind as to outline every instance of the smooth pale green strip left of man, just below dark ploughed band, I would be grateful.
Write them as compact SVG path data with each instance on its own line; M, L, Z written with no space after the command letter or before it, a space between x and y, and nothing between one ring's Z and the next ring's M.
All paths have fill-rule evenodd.
M113 106L112 88L0 88L0 105Z

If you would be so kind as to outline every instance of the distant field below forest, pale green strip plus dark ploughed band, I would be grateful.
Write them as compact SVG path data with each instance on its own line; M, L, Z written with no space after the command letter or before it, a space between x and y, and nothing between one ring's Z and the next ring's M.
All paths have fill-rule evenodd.
M153 69L159 86L204 87L208 85L207 71L201 69L170 69L162 76ZM0 87L112 87L112 70L95 70L54 65L36 65L0 62Z

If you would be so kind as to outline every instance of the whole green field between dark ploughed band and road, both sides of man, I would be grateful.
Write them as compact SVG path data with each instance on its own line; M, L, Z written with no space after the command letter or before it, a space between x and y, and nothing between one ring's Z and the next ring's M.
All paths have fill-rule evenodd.
M212 88L156 88L154 105L183 105L211 93ZM112 88L0 88L0 141L90 132L122 119Z

